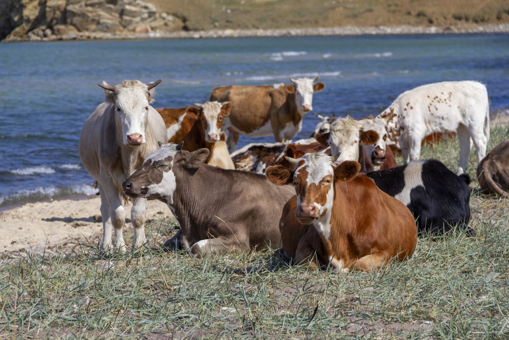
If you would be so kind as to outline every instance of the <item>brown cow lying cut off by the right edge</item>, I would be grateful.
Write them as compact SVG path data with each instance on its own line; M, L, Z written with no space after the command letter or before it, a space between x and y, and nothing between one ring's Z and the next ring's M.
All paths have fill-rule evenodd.
M509 197L509 140L495 146L479 162L477 180L484 193Z

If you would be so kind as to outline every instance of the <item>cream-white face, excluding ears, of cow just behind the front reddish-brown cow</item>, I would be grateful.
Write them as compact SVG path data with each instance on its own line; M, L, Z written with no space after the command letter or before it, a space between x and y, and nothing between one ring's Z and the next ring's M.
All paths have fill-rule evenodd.
M339 155L337 162L358 161L362 125L353 118L337 118L330 124L328 144L331 155Z

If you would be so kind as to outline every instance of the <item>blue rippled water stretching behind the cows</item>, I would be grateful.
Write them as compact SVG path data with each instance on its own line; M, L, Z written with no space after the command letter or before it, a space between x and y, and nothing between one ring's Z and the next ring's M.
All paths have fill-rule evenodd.
M422 84L477 80L492 114L509 113L507 34L3 43L0 65L0 208L96 192L77 144L104 99L103 80L162 79L153 106L178 108L208 100L218 85L320 74L326 88L314 112L354 118ZM307 114L296 138L317 121ZM238 147L250 142L273 139L241 136Z

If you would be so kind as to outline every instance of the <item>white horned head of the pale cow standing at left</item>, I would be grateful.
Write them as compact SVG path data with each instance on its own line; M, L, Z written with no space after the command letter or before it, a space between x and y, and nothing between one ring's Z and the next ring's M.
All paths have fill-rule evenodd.
M160 82L147 85L137 80L125 80L117 86L106 82L98 84L104 89L106 101L115 104L115 120L122 130L124 145L145 143L149 104L154 98L153 88Z

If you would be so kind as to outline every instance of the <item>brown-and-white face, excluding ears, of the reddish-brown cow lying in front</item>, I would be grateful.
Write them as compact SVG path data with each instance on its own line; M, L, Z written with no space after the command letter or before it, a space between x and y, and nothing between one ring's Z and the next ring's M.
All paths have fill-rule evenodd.
M303 223L312 222L326 239L330 236L334 199L334 159L325 152L306 153L295 160L298 167L293 178L297 193L297 218Z

